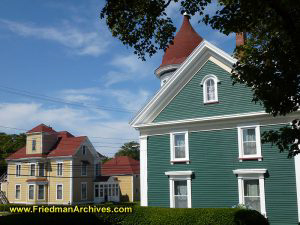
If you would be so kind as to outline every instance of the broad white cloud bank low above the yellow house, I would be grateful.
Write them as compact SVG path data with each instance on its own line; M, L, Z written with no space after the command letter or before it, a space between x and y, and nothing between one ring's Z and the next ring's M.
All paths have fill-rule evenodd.
M40 123L50 125L57 131L67 130L74 135L88 136L92 142L97 142L93 144L96 149L108 156L112 156L121 143L126 142L125 139L134 140L138 137L137 131L129 126L128 120L102 120L85 109L49 109L37 103L0 103L0 132L18 133L14 129L1 126L29 130Z

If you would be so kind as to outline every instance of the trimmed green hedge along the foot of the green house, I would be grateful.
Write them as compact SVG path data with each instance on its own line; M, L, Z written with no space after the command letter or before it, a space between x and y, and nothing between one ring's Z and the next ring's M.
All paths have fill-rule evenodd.
M157 207L134 207L131 214L101 214L100 220L107 224L123 225L267 225L266 218L254 210L230 208L170 209Z

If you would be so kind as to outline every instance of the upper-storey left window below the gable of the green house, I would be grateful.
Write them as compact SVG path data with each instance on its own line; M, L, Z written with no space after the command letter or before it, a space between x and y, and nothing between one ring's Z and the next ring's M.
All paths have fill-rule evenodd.
M189 161L188 132L170 134L171 163Z

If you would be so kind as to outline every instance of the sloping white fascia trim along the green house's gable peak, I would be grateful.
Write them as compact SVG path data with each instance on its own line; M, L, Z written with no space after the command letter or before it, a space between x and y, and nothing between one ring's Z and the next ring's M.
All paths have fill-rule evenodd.
M218 58L222 63L229 67L232 67L232 65L237 61L228 53L222 51L208 41L202 41L175 71L169 82L159 89L154 97L136 114L129 124L136 128L140 123L147 120L149 114L154 115L157 111L159 111L159 108L166 105L168 103L168 99L171 98L171 96L174 96L175 92L182 87L181 81L185 81L185 79L187 79L188 76L183 76L183 72L188 71L188 73L192 73L194 70L198 69L199 66L201 67L201 64L203 66L210 56ZM199 65L195 62L200 62L201 64ZM195 66L198 68L194 68ZM194 68L194 70L192 68ZM159 99L161 99L161 101L159 101Z

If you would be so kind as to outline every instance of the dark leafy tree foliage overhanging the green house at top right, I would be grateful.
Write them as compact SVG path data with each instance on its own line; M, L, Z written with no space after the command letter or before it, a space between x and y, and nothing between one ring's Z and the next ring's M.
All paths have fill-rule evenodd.
M175 27L166 14L171 2L180 3L181 13L199 15L199 22L226 35L246 32L245 45L235 50L238 62L232 71L233 84L250 87L253 101L273 116L299 110L299 0L219 0L219 8L210 15L204 10L211 0L107 0L100 17L114 37L145 60L165 50L173 39ZM291 126L266 132L264 141L292 157L300 152L295 142L300 140L298 125L294 120Z

